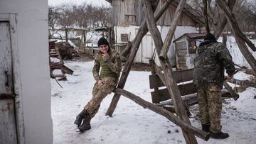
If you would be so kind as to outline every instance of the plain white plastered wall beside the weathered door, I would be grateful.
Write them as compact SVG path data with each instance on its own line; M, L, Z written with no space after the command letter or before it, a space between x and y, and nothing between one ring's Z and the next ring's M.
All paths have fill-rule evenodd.
M16 13L25 143L53 143L48 65L48 1L1 0L0 13ZM22 139L22 138L21 138ZM23 142L21 142L23 143Z

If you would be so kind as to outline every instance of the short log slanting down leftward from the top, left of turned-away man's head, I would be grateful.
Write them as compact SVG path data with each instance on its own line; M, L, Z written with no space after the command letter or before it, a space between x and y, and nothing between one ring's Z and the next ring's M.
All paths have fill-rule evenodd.
M161 53L159 55L159 59L161 59L161 60L166 60L166 55L170 48L171 40L174 36L176 26L178 24L178 20L181 16L181 13L182 13L182 10L183 10L183 7L185 6L185 4L186 4L186 0L181 0L178 3L178 7L174 14L174 20L171 23L171 28L170 28L169 32L167 33L166 39L164 40L164 47L161 49Z

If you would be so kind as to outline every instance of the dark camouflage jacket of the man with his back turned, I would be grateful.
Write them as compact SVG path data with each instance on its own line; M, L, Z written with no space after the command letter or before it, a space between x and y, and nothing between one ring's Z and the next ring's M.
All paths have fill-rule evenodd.
M230 52L221 43L205 40L196 50L194 60L193 83L196 87L205 84L217 84L223 87L224 68L226 72L233 75L234 63Z

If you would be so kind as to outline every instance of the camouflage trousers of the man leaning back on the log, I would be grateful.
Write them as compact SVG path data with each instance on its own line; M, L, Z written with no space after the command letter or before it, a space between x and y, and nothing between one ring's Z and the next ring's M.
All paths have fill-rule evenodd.
M92 99L85 105L84 109L90 113L91 118L95 116L97 111L100 109L100 103L107 96L111 94L117 82L112 77L102 78L103 84L98 86L97 82L94 84L92 89Z

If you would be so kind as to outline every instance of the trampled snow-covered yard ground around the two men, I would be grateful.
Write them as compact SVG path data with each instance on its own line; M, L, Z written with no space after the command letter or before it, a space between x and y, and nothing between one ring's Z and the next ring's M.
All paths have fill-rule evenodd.
M113 94L102 101L99 112L91 121L92 129L79 133L73 124L75 116L92 97L95 80L92 77L93 62L65 62L75 72L68 75L68 81L60 82L63 89L54 79L52 84L52 118L53 138L55 144L65 143L185 143L181 128L168 119L137 105L121 96L117 109L112 117L105 116ZM151 102L149 89L150 72L132 71L124 89ZM235 78L247 79L247 74L238 73ZM223 104L221 123L223 131L230 134L225 140L211 139L207 142L197 138L198 143L218 144L255 144L256 143L256 95L255 88L247 88L240 93L240 99L228 99ZM198 121L198 106L193 109L191 123L201 128ZM168 133L171 131L171 133Z

